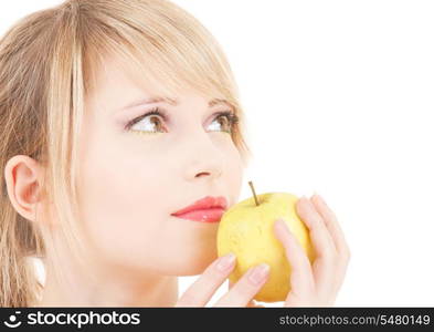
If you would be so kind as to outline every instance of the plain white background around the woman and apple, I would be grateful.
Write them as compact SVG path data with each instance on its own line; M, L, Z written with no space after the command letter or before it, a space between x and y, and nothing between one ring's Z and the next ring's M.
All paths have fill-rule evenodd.
M241 89L254 159L240 199L247 180L326 198L352 251L336 305L434 305L434 2L174 2L218 38ZM1 1L0 32L56 3Z

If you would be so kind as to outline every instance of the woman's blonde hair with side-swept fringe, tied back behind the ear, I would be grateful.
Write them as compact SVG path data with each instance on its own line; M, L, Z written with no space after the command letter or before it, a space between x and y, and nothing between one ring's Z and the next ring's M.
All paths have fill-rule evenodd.
M108 54L121 56L125 70L134 70L156 93L188 86L227 101L240 117L232 138L244 166L251 156L237 87L221 46L172 2L70 0L21 19L0 40L0 170L4 174L14 155L44 166L44 201L81 262L77 139L86 97ZM43 286L27 258L55 253L47 250L54 240L17 212L4 177L0 190L0 305L30 307Z

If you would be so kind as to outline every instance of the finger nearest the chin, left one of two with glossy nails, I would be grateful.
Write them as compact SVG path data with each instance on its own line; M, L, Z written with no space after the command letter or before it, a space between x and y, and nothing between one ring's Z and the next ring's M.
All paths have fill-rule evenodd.
M188 290L174 307L205 307L212 295L229 277L235 267L236 257L225 255L213 261Z

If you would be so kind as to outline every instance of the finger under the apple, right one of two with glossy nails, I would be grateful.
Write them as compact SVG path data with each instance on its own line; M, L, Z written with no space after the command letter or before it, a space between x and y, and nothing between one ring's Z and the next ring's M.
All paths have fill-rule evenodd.
M265 263L250 268L214 307L246 307L268 280L268 273L269 266Z

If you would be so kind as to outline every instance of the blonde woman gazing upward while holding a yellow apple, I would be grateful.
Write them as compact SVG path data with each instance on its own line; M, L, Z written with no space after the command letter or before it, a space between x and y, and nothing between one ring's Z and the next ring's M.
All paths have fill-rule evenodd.
M19 21L0 42L1 305L204 307L236 260L215 259L216 222L173 212L237 201L243 124L221 48L171 2L70 0ZM284 305L331 305L348 246L319 196L297 212L317 259L275 224L293 269ZM268 270L215 305L254 307ZM199 273L179 297L178 277Z

